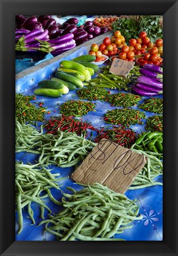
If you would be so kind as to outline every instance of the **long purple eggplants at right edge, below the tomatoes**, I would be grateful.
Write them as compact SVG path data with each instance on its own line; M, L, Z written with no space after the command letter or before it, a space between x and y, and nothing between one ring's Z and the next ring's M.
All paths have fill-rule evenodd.
M138 76L132 91L142 96L156 96L163 94L163 69L154 64L145 64L140 69L141 76Z

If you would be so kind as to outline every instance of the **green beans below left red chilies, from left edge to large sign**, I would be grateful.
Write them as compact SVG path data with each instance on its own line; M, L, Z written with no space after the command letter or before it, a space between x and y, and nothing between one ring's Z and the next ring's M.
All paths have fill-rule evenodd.
M21 129L21 131L19 130ZM28 129L28 132L27 132ZM83 161L90 151L97 145L85 139L85 135L77 136L73 132L58 130L57 135L34 132L34 127L17 123L16 153L30 152L40 155L38 162L53 164L59 167L72 167Z

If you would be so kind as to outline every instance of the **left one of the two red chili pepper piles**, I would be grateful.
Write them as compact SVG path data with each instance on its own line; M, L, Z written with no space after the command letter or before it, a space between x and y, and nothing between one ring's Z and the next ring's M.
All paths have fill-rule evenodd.
M72 116L66 117L64 115L60 117L52 117L45 126L48 130L47 133L57 133L57 129L60 128L63 132L75 132L77 135L86 133L86 129L95 130L95 127L89 123L82 122L81 120L73 119ZM87 135L86 135L87 136Z

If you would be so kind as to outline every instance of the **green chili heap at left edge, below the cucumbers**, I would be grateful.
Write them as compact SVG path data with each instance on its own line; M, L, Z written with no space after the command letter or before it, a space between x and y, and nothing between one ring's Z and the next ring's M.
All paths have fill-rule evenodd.
M33 121L44 121L44 114L46 108L42 107L42 103L39 104L40 107L36 108L30 101L35 100L35 95L22 95L15 94L15 117L20 123L33 123Z

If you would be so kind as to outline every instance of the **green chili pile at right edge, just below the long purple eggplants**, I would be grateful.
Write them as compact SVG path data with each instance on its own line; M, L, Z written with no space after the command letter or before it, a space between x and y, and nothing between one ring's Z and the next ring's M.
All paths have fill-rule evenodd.
M139 105L143 110L147 110L156 114L163 114L163 99L150 98Z

